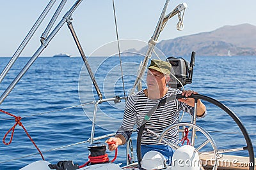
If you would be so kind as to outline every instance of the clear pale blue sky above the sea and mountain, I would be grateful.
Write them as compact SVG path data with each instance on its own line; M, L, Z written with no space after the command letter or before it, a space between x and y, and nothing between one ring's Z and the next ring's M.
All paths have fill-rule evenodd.
M12 57L49 1L0 1L0 57ZM60 22L65 12L75 2L67 1L56 23ZM156 28L164 3L165 0L115 0L118 37L123 40L134 39L131 45L122 46L122 43L120 43L121 51L127 50L127 48L139 50L142 46L147 45ZM168 21L159 36L159 41L199 32L214 31L224 25L248 23L256 26L255 0L170 0L167 13L180 3L188 4L184 13L184 30L177 31L176 24L179 20L175 16ZM58 4L60 4L60 1L57 0L20 56L30 57L40 47L40 36ZM108 46L109 43L116 41L112 0L84 0L74 11L72 18L72 24L86 56L93 54L107 56L109 55L107 51L110 48L115 48L114 51L116 52L117 43L112 43L114 46ZM102 46L106 48L102 48ZM102 49L100 53L95 53L95 50L99 51L99 48ZM56 53L79 56L79 51L67 24L61 27L40 56L47 57Z

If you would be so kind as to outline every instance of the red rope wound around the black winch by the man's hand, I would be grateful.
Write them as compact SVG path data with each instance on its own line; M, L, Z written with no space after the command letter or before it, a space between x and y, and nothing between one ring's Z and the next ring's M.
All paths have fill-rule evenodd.
M115 143L115 142L108 142L108 145L111 145L113 143ZM115 150L115 157L110 162L114 162L116 160L116 157L117 157L117 148ZM100 156L97 156L97 157L91 157L91 155L89 155L88 158L89 158L88 162L86 162L85 164L79 166L79 168L87 166L89 163L109 162L108 154L100 155Z

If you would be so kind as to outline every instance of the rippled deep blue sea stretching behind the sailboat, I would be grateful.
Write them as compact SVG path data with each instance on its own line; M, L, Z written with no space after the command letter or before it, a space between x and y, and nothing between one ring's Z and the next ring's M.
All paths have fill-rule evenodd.
M0 58L3 71L10 57ZM3 94L29 57L17 59L12 69L1 82ZM184 59L190 60L190 57ZM73 160L74 164L84 164L88 160L88 145L91 136L97 138L116 131L122 123L125 101L118 97L128 96L138 67L143 57L88 57L93 85L88 69L81 57L38 57L35 63L4 99L0 109L16 117L21 117L22 126L35 141L36 146L51 164L61 160ZM120 64L122 63L122 64ZM254 150L256 145L256 57L253 56L196 56L193 82L185 89L211 97L225 104L242 122ZM145 88L145 76L142 79ZM96 88L95 88L96 87ZM97 89L97 90L95 90ZM97 91L106 102L99 103L95 115L95 132L92 132L93 109L99 100ZM116 102L113 99L117 99ZM242 148L246 141L236 122L212 103L203 101L207 115L198 118L197 125L209 132L218 149ZM180 117L183 113L180 113ZM189 122L184 113L182 122ZM15 118L0 112L0 169L20 169L36 160L42 160L38 150L22 128L15 125ZM4 136L7 134L6 138ZM198 134L195 143L204 141ZM95 142L104 142L100 139ZM136 160L136 132L132 134L134 157ZM116 163L126 164L126 146L118 147ZM207 144L202 151L212 150ZM109 152L113 159L115 152ZM248 156L248 151L227 153Z

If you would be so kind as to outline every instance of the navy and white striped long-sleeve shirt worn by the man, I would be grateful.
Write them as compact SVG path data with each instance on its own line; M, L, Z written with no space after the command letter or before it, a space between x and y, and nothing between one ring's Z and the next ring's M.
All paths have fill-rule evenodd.
M181 94L181 93L182 92L180 90L169 88L166 95L161 99L164 99L168 96ZM124 111L124 118L123 118L122 125L118 129L116 134L122 134L122 136L125 137L126 141L128 141L128 139L131 137L132 129L134 128L134 125L136 125L139 128L145 115L147 115L148 111L157 103L159 103L161 99L157 99L157 100L148 99L148 97L145 96L143 90L141 90L140 92L138 92L133 96L129 96L125 104L125 111ZM161 132L163 132L164 129L166 129L166 127L169 127L170 125L178 122L179 113L181 110L186 111L189 114L193 115L193 107L189 106L186 103L182 103L177 99L163 104L150 117L150 119L146 124L146 128L156 132L157 134L161 134ZM179 144L180 140L179 140L179 132L177 131L177 127L170 130L164 136L164 138L172 141L173 143ZM157 143L157 137L147 131L144 131L142 134L141 144L142 145L159 145L159 143ZM164 142L162 142L161 144L163 145Z

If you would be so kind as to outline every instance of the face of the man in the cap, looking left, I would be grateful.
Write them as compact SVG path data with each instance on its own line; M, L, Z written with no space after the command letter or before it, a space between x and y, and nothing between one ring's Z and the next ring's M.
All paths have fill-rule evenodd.
M166 78L164 74L154 69L148 69L147 87L148 90L159 90L165 87Z

